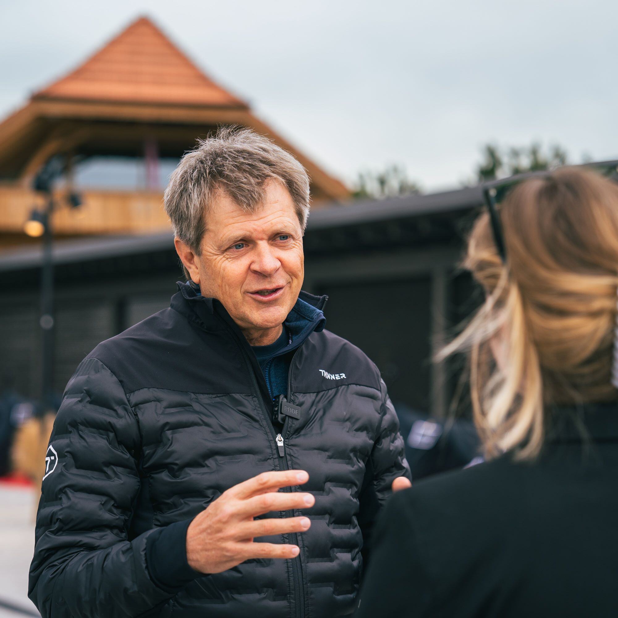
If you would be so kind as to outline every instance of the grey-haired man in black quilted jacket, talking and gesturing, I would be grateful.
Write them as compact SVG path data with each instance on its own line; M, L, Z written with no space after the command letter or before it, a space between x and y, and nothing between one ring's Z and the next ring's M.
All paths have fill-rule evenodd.
M220 130L165 207L188 283L70 380L30 598L54 618L350 614L409 470L379 371L300 291L307 174Z

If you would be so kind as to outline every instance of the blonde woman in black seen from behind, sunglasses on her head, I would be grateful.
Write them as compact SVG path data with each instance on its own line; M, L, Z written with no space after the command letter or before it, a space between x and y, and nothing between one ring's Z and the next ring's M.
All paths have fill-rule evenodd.
M565 167L488 197L486 302L445 351L486 462L391 499L361 618L618 616L618 186Z

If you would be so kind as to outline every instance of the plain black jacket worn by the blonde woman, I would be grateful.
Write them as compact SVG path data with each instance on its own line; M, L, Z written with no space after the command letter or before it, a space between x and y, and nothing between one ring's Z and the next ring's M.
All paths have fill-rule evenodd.
M560 412L535 463L504 456L392 497L359 618L618 616L618 404Z

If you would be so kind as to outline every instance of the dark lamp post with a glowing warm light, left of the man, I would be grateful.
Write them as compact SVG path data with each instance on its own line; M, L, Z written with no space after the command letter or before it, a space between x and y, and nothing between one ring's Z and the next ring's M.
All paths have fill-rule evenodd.
M66 169L66 159L54 156L41 168L33 181L33 189L42 193L44 210L33 209L25 222L24 231L34 237L43 237L43 261L41 265L41 404L44 410L53 407L54 394L54 260L52 213L56 207L53 195L54 182ZM77 208L82 200L77 193L69 193L68 205Z

